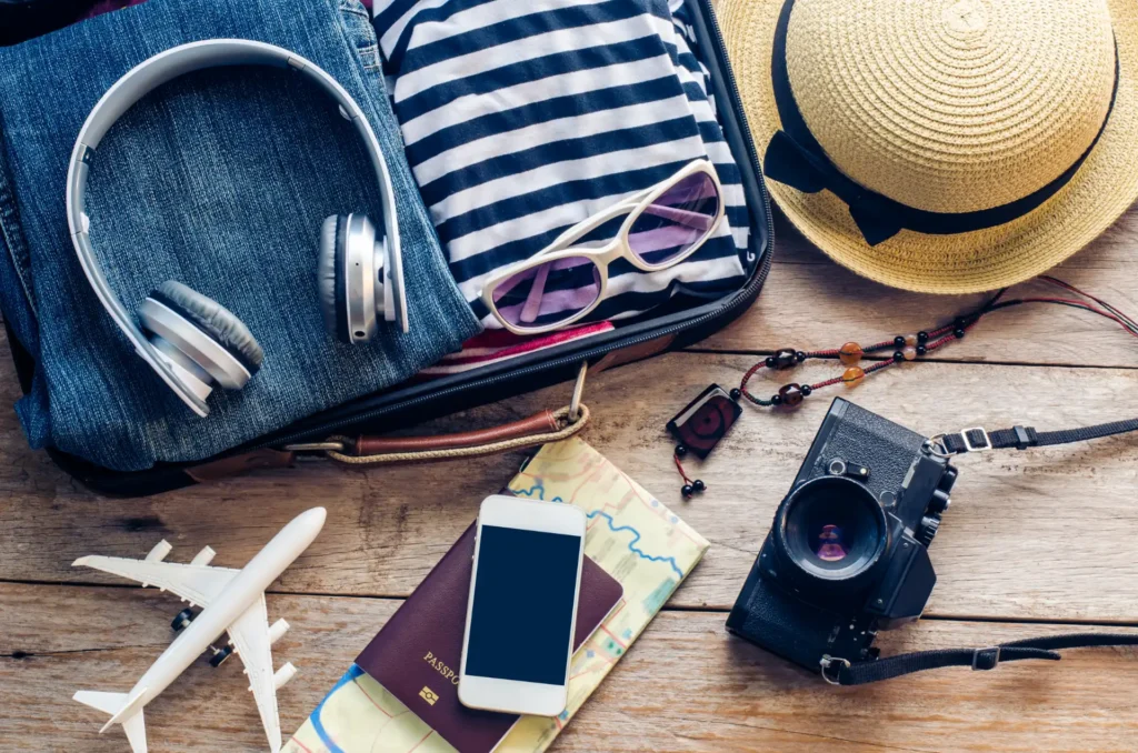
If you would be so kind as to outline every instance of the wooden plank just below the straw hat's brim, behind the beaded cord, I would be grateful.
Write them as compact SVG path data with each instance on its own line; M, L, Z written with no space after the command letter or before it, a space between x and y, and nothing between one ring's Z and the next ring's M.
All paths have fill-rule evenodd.
M834 264L786 221L776 227L775 265L758 301L739 321L699 345L728 351L863 345L951 322L986 296L927 296L885 288ZM1138 209L1090 248L1053 271L1061 280L1138 316ZM1020 296L1065 297L1031 283ZM992 314L938 359L1138 366L1138 347L1115 324L1086 312L1028 305Z

